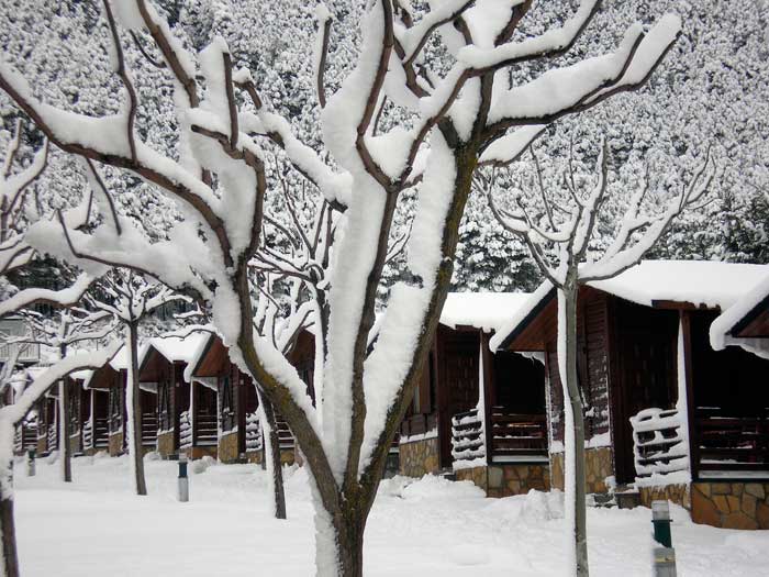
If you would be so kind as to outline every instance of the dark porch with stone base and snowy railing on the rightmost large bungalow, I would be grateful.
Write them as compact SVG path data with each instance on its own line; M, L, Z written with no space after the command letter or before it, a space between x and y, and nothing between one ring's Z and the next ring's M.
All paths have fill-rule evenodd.
M634 307L617 314L617 480L635 481L644 504L672 500L699 523L769 529L769 360L713 351L717 311Z

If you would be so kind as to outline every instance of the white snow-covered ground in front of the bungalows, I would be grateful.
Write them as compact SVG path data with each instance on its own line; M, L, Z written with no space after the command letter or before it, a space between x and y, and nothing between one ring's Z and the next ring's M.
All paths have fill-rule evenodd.
M75 482L41 459L16 465L23 575L312 576L313 523L305 473L287 470L288 521L267 515L267 484L252 465L196 462L188 503L176 501L174 463L147 461L149 497L130 492L125 458L78 457ZM382 484L366 533L366 575L562 575L558 493L486 499L469 482L395 478ZM673 509L679 576L769 572L769 532L694 525ZM650 512L591 509L593 575L650 575Z

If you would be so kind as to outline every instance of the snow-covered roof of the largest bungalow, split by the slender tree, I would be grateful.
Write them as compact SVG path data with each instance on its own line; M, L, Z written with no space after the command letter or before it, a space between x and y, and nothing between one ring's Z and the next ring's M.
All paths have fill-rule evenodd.
M592 288L645 307L680 304L727 309L767 275L764 265L713 260L643 260L609 280L589 282ZM555 298L549 281L543 282L491 339L492 349L506 348Z

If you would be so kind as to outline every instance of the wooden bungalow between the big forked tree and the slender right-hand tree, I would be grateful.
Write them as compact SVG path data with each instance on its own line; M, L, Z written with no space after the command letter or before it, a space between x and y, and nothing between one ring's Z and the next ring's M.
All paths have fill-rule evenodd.
M401 424L402 475L448 473L491 497L549 487L544 367L536 355L491 354L488 346L527 298L448 295Z

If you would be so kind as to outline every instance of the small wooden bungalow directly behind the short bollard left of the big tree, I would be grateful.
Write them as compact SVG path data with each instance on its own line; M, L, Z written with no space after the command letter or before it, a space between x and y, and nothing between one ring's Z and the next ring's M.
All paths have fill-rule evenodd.
M215 395L197 391L193 399L190 384L183 378L203 339L198 334L151 339L140 354L140 387L155 396L157 451L164 458L176 457L180 450L194 457L216 455Z

